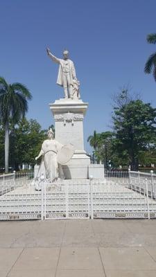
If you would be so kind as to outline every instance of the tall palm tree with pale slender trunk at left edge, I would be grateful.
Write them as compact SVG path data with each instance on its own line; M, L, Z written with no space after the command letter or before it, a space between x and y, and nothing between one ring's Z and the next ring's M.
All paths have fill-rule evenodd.
M28 111L27 100L31 93L24 84L15 82L8 84L0 77L0 118L5 127L5 172L8 172L9 155L9 122L16 124Z

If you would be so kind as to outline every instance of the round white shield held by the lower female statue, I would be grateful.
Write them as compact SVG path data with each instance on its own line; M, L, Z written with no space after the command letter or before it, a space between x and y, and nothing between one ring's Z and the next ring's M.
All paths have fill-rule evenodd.
M73 153L74 147L71 143L63 145L57 155L58 163L60 163L61 165L67 163L73 157Z

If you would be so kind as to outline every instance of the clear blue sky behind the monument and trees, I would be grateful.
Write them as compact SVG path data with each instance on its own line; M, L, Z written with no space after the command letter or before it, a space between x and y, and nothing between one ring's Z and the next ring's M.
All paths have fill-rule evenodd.
M62 57L64 48L76 66L80 93L89 108L87 137L110 129L112 95L132 87L156 107L156 83L144 74L148 56L156 51L146 35L156 33L155 0L1 0L0 75L30 89L27 118L43 128L53 123L49 103L62 98L56 84L58 65L45 48Z

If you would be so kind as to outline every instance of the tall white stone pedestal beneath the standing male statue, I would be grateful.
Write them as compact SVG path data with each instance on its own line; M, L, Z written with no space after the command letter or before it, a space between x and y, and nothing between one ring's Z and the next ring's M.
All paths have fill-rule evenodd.
M55 119L55 139L62 144L73 144L75 153L63 166L67 179L87 179L90 159L84 150L83 118L88 103L83 100L60 99L49 104Z

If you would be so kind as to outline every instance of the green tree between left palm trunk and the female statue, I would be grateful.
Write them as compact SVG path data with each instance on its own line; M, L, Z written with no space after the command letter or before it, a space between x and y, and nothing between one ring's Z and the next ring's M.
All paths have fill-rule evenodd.
M23 118L10 132L10 164L15 170L21 163L35 165L35 157L40 152L46 130L42 130L36 120Z

